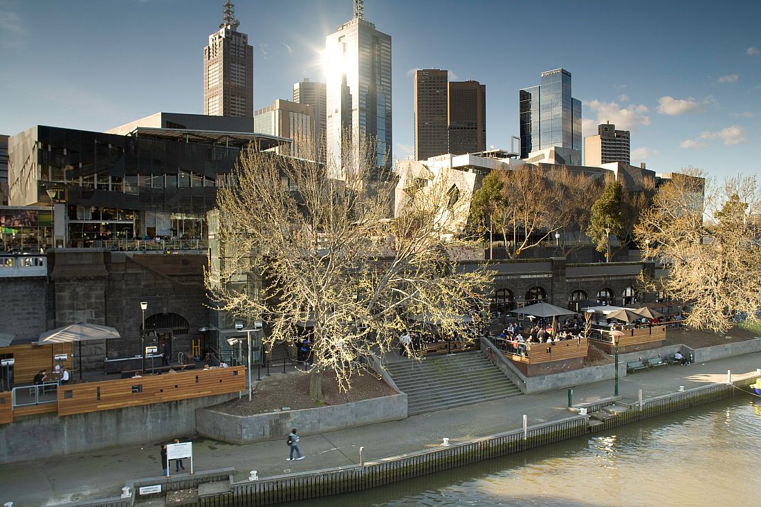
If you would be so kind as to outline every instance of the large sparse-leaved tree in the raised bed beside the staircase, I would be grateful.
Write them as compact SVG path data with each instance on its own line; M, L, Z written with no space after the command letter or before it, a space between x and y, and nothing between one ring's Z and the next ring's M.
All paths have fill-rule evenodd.
M396 181L371 164L374 152L354 136L339 167L330 156L323 165L249 148L218 189L228 260L206 273L209 296L238 318L262 319L268 347L312 324L316 400L326 369L348 390L363 359L389 350L409 317L424 316L444 335L462 331L489 282L486 271L458 269L451 251L465 240L445 240L464 205L451 182L408 182L405 212L389 220ZM259 290L237 283L250 273Z

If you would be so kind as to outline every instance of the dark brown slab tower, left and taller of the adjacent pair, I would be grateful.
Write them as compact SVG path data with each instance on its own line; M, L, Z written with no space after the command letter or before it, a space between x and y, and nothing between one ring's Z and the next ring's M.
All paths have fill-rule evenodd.
M419 69L412 84L415 107L415 160L449 153L447 71Z

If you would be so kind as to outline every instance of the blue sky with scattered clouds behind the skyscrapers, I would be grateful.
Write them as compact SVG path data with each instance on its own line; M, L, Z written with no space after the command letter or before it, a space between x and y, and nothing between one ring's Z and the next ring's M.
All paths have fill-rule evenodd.
M202 55L221 0L0 0L0 133L102 131L158 111L202 113ZM239 0L254 46L254 107L323 79L325 36L352 0ZM761 174L761 2L365 0L392 37L393 155L414 145L412 75L486 85L486 145L518 136L518 90L572 73L584 136L632 132L632 164Z

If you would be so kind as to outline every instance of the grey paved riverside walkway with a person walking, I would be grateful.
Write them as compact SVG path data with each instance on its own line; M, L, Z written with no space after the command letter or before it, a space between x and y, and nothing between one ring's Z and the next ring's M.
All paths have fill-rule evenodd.
M741 375L756 368L761 368L761 352L690 366L664 366L622 378L619 392L624 401L635 402L638 389L642 389L644 397L652 397L677 391L680 385L689 389L726 381L728 369L733 375ZM613 381L597 382L575 387L573 401L583 403L612 395ZM194 438L195 468L235 467L235 480L243 480L248 477L248 470L258 470L260 477L268 477L289 471L351 465L358 462L361 445L365 446L365 459L372 461L436 447L442 437L463 442L518 429L523 425L524 414L528 416L529 425L561 419L569 415L567 405L567 392L562 389L424 413L371 427L305 435L300 448L307 458L302 461L286 461L286 435L276 442L251 445ZM189 460L185 460L185 467L189 471ZM14 502L14 507L56 505L78 499L119 496L126 480L158 475L161 475L161 465L155 442L3 465L0 466L0 505L5 502Z

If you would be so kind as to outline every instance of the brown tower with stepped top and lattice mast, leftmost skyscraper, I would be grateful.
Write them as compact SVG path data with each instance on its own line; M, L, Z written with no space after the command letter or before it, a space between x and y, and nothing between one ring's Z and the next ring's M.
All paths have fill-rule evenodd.
M253 47L237 31L234 5L224 2L219 30L203 48L203 113L253 116Z

